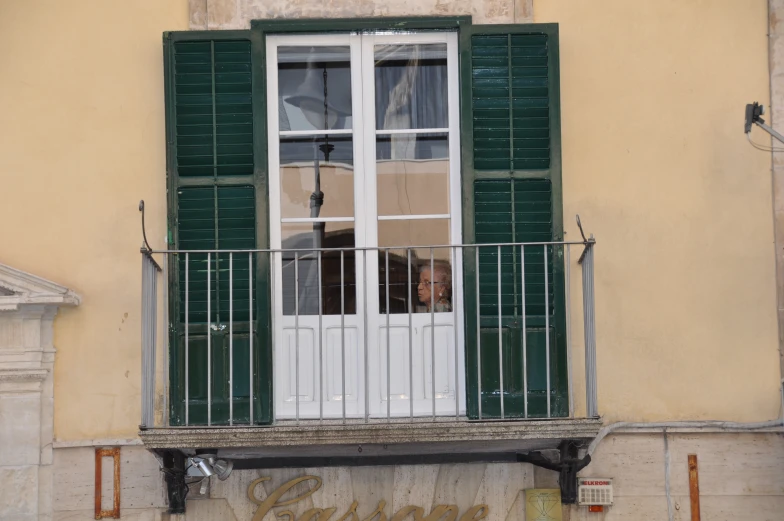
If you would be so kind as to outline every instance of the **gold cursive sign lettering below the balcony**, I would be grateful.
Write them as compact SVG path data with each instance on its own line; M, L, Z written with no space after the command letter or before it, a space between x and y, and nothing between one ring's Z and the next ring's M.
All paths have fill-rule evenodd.
M269 481L270 478L259 478L251 482L248 486L248 499L259 506L256 513L253 515L253 521L262 521L264 516L273 508L287 507L308 498L311 494L321 488L321 478L318 476L302 476L287 481L275 490L273 490L265 499L259 499L256 495L256 487L264 481ZM312 482L310 489L296 497L288 497L284 499L286 493L304 482ZM357 508L358 501L354 501L348 507L348 510L340 517L333 517L337 512L335 507L327 508L310 508L302 513L300 517L296 517L291 510L282 510L276 515L279 519L284 521L387 521L387 515L384 513L384 507L387 502L383 499L378 502L376 509L364 519L359 519ZM487 517L490 513L490 507L482 505L474 505L468 510L463 512L463 515L458 517L460 512L457 505L435 505L429 514L425 515L425 509L415 505L408 505L400 508L397 512L392 514L389 521L479 521Z

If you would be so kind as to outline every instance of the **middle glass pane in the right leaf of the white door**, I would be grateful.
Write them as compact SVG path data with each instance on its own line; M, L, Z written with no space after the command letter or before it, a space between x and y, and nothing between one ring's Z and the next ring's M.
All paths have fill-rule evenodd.
M379 215L449 213L447 134L376 138Z

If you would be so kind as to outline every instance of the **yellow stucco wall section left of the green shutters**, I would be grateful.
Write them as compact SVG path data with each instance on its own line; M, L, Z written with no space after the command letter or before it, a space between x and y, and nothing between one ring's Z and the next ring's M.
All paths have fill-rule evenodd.
M186 0L0 2L0 262L66 285L55 436L134 436L141 229L166 205L161 34Z

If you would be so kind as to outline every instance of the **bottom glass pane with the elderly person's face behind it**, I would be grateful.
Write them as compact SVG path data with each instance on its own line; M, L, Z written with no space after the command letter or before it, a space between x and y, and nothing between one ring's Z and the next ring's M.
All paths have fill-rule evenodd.
M435 304L434 309L437 313L452 310L453 253L450 248L432 248L434 277L430 270L431 248L428 247L449 244L449 242L449 219L412 219L378 223L379 246L404 246L404 248L389 250L390 313L408 313L409 307L414 313L429 313L431 304ZM378 255L379 309L381 313L386 313L386 250L381 250ZM409 270L411 271L410 300L408 298Z

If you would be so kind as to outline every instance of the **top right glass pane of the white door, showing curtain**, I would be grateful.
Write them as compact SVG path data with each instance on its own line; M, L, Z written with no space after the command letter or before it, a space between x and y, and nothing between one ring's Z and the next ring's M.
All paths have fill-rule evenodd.
M376 129L446 128L446 44L375 47Z

